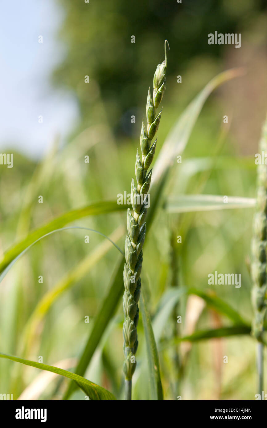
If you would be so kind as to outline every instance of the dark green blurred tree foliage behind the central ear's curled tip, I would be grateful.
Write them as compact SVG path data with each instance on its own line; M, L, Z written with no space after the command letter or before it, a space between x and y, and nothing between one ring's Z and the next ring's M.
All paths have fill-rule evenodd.
M207 43L208 33L237 33L240 21L264 7L246 0L58 0L66 11L60 39L66 57L54 72L54 82L75 91L81 108L81 128L99 121L99 89L108 120L116 134L128 133L125 120L144 104L144 86L151 85L155 59L163 59L168 39L169 74L182 74L192 57L219 57L220 45ZM131 42L135 36L135 43ZM88 75L90 83L84 83ZM142 80L142 85L140 85ZM96 82L98 85L96 85ZM142 104L141 104L142 103Z

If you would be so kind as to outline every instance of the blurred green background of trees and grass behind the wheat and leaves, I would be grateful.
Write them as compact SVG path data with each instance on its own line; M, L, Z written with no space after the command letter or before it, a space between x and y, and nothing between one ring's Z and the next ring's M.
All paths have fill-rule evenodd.
M7 146L14 153L14 167L0 167L0 246L4 253L16 240L48 220L74 208L100 200L116 200L129 192L134 173L141 120L147 89L153 84L156 65L162 62L168 39L167 88L158 133L157 153L180 114L220 71L244 67L246 74L219 87L207 100L192 131L182 163L174 166L165 195L214 194L255 197L256 167L261 125L267 111L267 10L264 1L103 0L83 3L56 2L63 12L57 40L64 56L51 74L55 88L69 91L78 103L79 119L67 141L60 135L47 145L39 161ZM242 46L208 45L208 33L241 33ZM135 43L131 43L131 36ZM88 75L90 83L84 83ZM177 83L177 76L182 83ZM131 116L135 115L135 123ZM223 116L228 123L223 123ZM2 142L2 147L5 142ZM49 143L49 142L48 142ZM89 155L90 163L84 163ZM175 162L175 160L174 160ZM171 190L170 190L171 189ZM38 203L38 196L43 203ZM151 316L168 288L175 285L210 290L252 318L251 280L247 268L253 208L167 214L160 208L144 247L142 286ZM75 224L111 235L123 228L126 216L108 214L84 218ZM124 230L114 240L123 248ZM87 340L100 302L118 262L114 247L104 247L99 235L64 231L45 238L9 271L0 288L1 351L57 365L75 367ZM182 236L177 244L175 237ZM100 248L102 256L96 257ZM93 259L95 257L95 259ZM81 263L86 268L81 270ZM77 269L75 279L45 313L32 340L25 340L25 326L39 300ZM80 269L80 270L79 270ZM242 286L207 285L207 275L241 273ZM79 275L79 272L82 272ZM39 283L39 276L43 282ZM177 307L182 315L179 334L228 325L227 319L208 309L200 298L183 297ZM175 315L175 316L176 316ZM89 316L86 324L84 317ZM162 341L172 338L175 316L168 319ZM195 321L194 318L195 316ZM123 311L117 314L94 354L86 377L120 397L122 386ZM138 327L134 399L148 399L145 343ZM27 344L27 345L25 345ZM185 358L183 379L175 384L177 348L159 346L165 399L254 399L255 342L249 336L213 339L181 347ZM186 354L187 353L187 354ZM228 356L228 363L223 363ZM39 374L36 369L0 361L1 391L24 391ZM265 377L265 383L267 377ZM40 387L36 398L61 399L66 380ZM38 390L38 388L37 388ZM74 399L84 399L75 392Z

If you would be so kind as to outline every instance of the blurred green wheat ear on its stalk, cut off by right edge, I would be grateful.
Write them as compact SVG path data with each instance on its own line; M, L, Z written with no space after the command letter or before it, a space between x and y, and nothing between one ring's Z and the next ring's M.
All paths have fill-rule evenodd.
M267 153L267 119L262 128L260 153ZM263 391L263 333L267 310L267 166L258 165L257 204L253 219L252 236L252 304L254 320L252 334L258 340L258 392Z

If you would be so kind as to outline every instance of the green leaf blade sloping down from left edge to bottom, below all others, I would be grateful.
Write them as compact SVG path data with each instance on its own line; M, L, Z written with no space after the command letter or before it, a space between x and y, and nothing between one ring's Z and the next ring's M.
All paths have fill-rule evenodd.
M81 388L90 400L116 400L111 392L102 386L96 385L90 382L90 380L84 379L84 377L75 375L75 373L68 372L67 370L59 369L58 367L48 366L47 364L36 363L35 361L24 360L23 358L14 357L13 355L0 354L0 358L6 358L8 360L16 361L17 363L25 364L26 366L36 367L37 369L47 370L48 372L56 373L57 375L68 377L74 380L79 388Z

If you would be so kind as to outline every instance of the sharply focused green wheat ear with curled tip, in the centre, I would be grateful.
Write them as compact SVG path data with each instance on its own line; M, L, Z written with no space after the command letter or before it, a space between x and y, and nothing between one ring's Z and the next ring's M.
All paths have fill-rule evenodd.
M151 97L150 88L147 95L147 129L144 126L144 119L141 127L141 157L137 151L135 160L135 178L132 179L131 186L131 204L133 215L128 209L127 213L127 231L128 236L125 240L125 259L123 271L123 282L125 291L123 294L123 340L124 340L124 364L123 372L125 375L126 400L131 400L132 375L135 371L135 353L138 347L137 324L139 318L138 300L141 292L141 268L143 262L142 247L146 234L145 217L147 214L147 192L150 187L152 169L147 170L152 163L155 151L156 140L151 145L153 138L159 127L162 110L156 115L156 109L162 101L166 86L166 67L167 55L166 46L169 44L165 40L165 60L156 68L153 79L153 96Z

